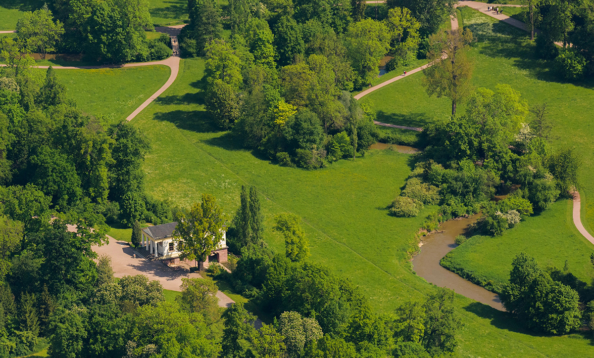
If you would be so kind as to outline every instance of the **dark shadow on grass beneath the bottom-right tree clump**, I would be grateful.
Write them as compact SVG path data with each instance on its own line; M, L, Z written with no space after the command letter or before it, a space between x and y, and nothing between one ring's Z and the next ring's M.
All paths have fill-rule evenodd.
M507 330L510 332L516 332L520 334L530 335L532 337L555 337L554 335L533 332L523 327L522 322L518 321L511 313L501 312L497 309L491 308L479 302L473 302L463 308L465 311L474 313L475 315L486 318L491 321L491 325L499 328L500 330ZM594 345L594 340L590 337L590 334L586 332L573 333L580 337L590 341L590 345Z

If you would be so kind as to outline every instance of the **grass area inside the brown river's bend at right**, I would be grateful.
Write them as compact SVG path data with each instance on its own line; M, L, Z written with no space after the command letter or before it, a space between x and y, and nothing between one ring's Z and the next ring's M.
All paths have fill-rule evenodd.
M500 292L510 277L512 259L526 252L536 257L541 267L563 269L567 261L571 273L590 283L594 277L590 253L594 248L574 227L571 205L570 200L561 199L503 236L472 237L445 256L442 265L457 273L462 271L463 277L472 275L483 283L491 281L495 291Z

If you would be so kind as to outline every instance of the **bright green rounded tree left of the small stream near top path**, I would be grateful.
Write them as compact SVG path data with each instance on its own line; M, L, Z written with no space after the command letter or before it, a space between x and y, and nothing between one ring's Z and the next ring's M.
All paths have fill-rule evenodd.
M345 46L351 65L359 76L355 87L368 85L380 73L380 60L390 49L388 28L371 19L350 24L345 33Z

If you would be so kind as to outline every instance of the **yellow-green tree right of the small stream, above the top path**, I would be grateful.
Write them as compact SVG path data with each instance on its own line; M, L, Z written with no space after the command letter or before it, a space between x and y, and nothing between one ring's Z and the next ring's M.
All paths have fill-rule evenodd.
M388 10L385 20L390 31L390 49L396 63L408 64L411 59L416 59L416 50L419 46L419 27L421 24L407 8L393 8Z

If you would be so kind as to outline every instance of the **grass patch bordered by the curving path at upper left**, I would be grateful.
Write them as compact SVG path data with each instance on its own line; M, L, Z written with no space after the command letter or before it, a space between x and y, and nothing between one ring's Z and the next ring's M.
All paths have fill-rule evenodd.
M68 96L83 112L121 121L155 93L169 78L168 66L56 69Z

